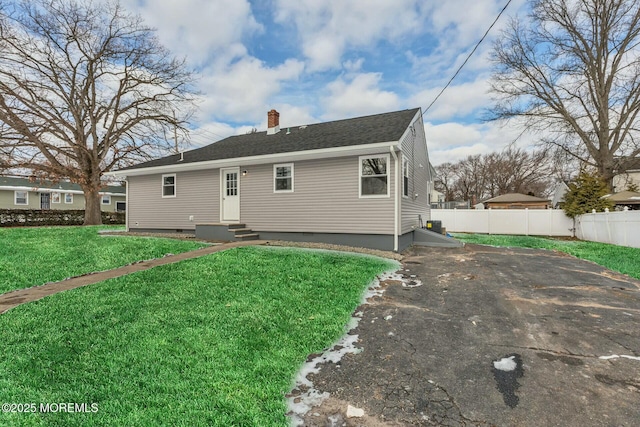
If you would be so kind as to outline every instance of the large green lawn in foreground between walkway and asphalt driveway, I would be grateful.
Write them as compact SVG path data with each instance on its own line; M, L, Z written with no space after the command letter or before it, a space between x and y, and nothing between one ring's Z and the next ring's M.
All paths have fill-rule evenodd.
M8 426L286 426L308 354L344 333L380 258L244 247L156 267L0 316L0 402L97 413L2 414Z

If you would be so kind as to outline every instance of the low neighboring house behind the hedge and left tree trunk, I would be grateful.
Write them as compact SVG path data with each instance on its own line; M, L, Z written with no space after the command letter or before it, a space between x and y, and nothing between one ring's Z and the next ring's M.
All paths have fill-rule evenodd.
M103 212L124 212L126 190L106 186L100 192ZM84 209L84 193L70 182L40 182L26 178L0 177L0 209Z

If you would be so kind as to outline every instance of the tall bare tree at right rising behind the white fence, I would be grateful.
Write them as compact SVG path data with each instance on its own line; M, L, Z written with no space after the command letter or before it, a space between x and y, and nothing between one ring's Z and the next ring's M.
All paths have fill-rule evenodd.
M532 0L495 44L492 117L597 168L609 187L640 154L640 0Z

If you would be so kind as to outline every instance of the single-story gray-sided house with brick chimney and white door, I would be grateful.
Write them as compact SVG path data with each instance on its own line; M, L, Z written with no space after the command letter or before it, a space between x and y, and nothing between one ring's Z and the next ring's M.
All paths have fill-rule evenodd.
M124 168L129 231L194 233L385 250L430 218L420 109L225 138ZM434 234L434 233L430 233Z

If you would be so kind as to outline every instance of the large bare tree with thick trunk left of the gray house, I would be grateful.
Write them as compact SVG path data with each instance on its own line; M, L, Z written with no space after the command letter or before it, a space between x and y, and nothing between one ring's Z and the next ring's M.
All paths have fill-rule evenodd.
M0 9L0 157L80 184L101 223L101 177L165 154L186 132L192 73L117 2L25 0ZM176 116L179 114L179 116Z

